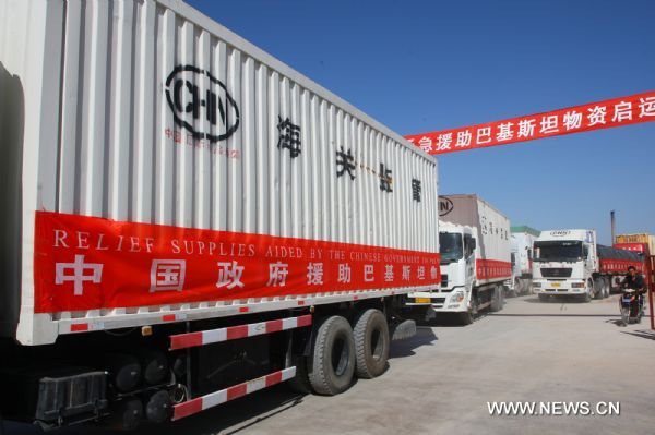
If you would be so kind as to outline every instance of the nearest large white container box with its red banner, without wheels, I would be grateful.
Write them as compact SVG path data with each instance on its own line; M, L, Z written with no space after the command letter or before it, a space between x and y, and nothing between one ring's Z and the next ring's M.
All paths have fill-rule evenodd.
M2 335L439 282L436 160L183 2L3 0L0 23Z

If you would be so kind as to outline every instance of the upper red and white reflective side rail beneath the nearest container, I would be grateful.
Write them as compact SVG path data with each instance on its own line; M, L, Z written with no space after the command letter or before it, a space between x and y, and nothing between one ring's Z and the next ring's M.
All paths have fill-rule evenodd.
M287 317L277 321L252 323L249 325L229 326L227 328L201 330L170 336L170 350L193 348L214 342L236 340L238 338L261 336L311 325L311 314Z

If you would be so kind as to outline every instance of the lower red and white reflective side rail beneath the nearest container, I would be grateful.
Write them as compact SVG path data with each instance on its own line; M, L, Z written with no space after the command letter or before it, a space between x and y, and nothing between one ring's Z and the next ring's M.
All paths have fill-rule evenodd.
M257 379L247 380L243 384L238 384L233 387L210 392L209 395L196 397L195 399L176 404L172 407L172 421L193 415L200 411L204 411L205 409L225 403L226 401L238 399L239 397L249 395L260 389L283 383L294 376L296 376L296 367L288 367L279 372L271 373L266 376L258 377Z

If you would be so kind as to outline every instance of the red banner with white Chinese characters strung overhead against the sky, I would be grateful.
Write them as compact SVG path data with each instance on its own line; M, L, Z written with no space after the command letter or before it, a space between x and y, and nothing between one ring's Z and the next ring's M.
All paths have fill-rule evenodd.
M648 121L655 121L655 90L405 137L429 154L445 154Z

